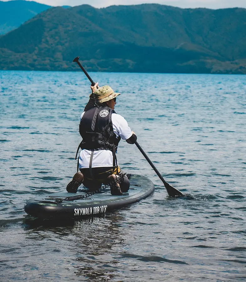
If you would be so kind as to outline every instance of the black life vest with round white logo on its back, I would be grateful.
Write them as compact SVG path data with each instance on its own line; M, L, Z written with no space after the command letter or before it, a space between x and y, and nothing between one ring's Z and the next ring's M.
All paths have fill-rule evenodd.
M117 138L113 132L112 113L115 111L109 107L92 107L84 113L79 125L83 140L78 150L110 150L113 153L113 166L116 166L116 152L121 138Z

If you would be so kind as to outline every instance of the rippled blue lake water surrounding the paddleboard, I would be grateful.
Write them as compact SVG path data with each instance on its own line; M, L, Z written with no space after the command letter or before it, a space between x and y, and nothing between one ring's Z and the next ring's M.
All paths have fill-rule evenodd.
M122 93L135 145L122 169L152 197L80 221L31 220L24 203L64 190L76 172L82 72L0 71L1 281L245 281L246 76L91 73Z

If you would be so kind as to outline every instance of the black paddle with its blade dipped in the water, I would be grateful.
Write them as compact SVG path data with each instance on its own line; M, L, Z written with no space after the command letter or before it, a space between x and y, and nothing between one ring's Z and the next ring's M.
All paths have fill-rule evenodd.
M81 65L80 61L79 61L79 57L76 57L73 62L76 62L81 70L83 70L83 72L85 73L85 75L88 77L89 81L91 81L91 83L93 84L93 86L95 85L95 82L92 80L92 78L89 76L89 74L87 73L87 71L85 70L85 68ZM98 88L98 86L97 86ZM153 170L155 171L155 173L160 177L160 180L163 182L163 184L165 185L165 188L167 190L167 193L170 197L177 197L177 196L184 196L184 194L182 192L180 192L179 190L177 190L176 188L174 188L172 185L168 184L164 178L161 176L160 172L156 169L156 167L153 165L153 163L151 162L151 160L149 159L149 157L145 154L144 150L140 147L140 145L138 144L138 142L135 142L136 146L139 148L139 151L144 155L144 158L148 161L148 163L151 165L151 167L153 168Z

